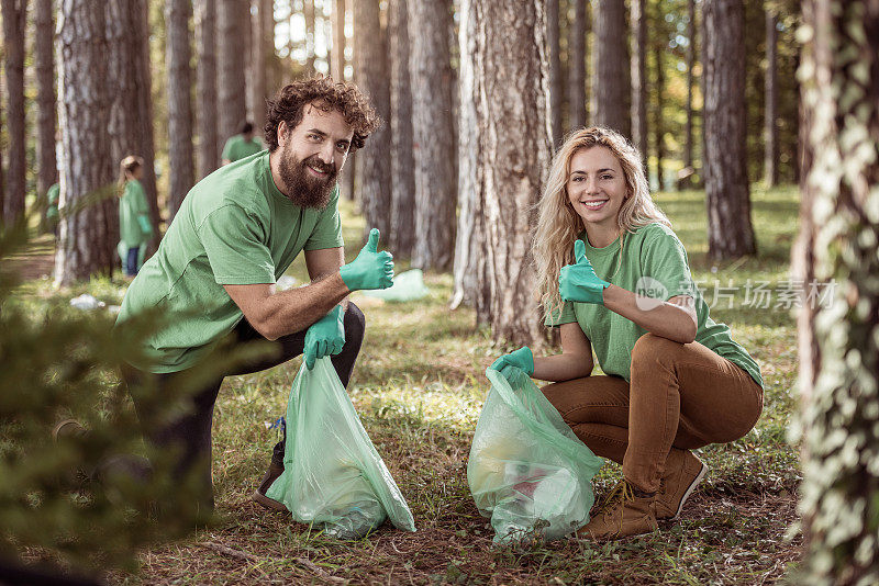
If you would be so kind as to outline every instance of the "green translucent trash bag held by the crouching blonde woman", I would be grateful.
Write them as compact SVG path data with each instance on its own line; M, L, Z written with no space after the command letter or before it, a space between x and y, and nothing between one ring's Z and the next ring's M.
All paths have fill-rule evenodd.
M467 482L491 518L494 542L561 538L589 521L592 476L603 460L580 441L524 372L512 384L488 369L491 390L476 425Z

